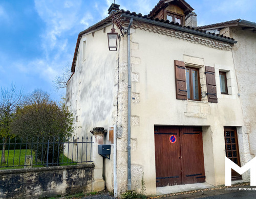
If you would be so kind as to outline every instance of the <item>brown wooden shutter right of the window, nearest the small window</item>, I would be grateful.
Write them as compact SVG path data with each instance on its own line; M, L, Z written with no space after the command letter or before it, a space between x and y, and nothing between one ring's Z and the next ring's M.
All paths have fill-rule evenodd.
M215 81L215 68L210 66L205 66L205 74L206 74L208 102L218 103L216 81Z

